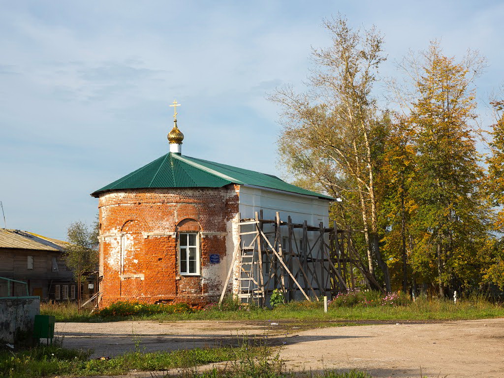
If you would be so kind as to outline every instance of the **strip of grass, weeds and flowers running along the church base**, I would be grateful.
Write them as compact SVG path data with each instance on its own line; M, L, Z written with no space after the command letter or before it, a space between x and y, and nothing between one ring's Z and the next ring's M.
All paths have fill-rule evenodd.
M471 320L504 317L504 307L481 295L448 299L418 297L415 302L405 295L382 296L376 292L339 294L324 312L322 301L291 301L273 309L246 305L232 298L211 303L201 310L186 304L140 304L116 302L95 313L78 313L75 304L41 304L41 314L53 315L56 322L110 322L121 320Z

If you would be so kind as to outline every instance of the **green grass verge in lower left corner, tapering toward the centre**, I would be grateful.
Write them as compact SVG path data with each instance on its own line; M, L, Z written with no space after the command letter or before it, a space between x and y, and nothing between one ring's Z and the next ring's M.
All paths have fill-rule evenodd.
M264 349L264 348L263 348ZM18 352L0 351L0 377L34 378L53 375L114 375L130 370L160 371L190 368L212 362L256 357L260 347L220 347L185 349L173 352L125 353L109 360L89 359L90 351L66 349L56 345L38 346ZM247 357L248 358L248 357Z

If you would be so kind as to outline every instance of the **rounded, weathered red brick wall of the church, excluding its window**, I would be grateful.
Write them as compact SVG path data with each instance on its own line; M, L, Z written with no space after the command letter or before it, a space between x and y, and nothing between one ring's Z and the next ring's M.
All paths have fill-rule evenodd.
M215 301L225 269L210 269L210 254L227 254L226 222L238 212L238 187L142 189L99 199L100 307L118 300ZM178 272L177 231L201 231L201 276ZM215 277L215 275L223 277Z

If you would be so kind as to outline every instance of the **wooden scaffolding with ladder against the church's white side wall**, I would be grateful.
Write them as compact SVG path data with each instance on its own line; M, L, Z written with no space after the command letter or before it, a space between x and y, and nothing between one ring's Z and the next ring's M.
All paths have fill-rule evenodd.
M264 307L273 290L285 299L319 300L338 292L354 290L356 273L368 287L379 288L362 262L352 233L360 230L293 223L291 217L264 219L263 211L255 218L240 219L239 238L232 264L224 282L220 302L233 278L233 294L242 302Z

